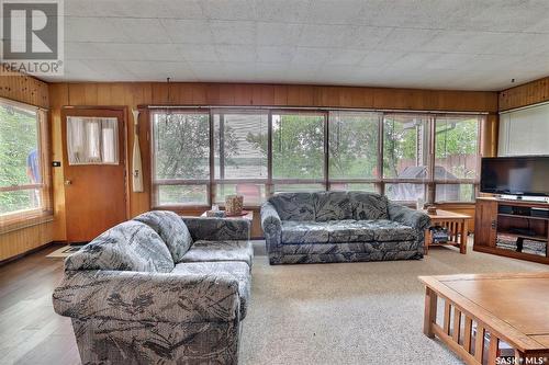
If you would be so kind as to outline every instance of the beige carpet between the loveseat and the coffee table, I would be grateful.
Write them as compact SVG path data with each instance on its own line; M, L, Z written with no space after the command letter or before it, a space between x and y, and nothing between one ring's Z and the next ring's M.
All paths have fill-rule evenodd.
M255 246L242 364L462 364L423 334L417 276L549 269L450 248L423 261L270 266Z

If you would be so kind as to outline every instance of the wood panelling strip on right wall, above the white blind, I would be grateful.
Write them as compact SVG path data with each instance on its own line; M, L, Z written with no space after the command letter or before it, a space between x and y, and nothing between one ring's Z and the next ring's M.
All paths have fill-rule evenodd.
M549 77L500 92L500 111L549 101Z

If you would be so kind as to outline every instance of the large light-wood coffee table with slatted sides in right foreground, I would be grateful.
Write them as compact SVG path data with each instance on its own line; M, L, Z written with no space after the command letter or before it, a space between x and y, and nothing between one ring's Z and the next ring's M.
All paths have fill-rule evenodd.
M549 364L549 273L419 276L424 333L467 364ZM437 323L437 300L444 300ZM478 351L483 349L483 351ZM525 360L526 358L526 360Z

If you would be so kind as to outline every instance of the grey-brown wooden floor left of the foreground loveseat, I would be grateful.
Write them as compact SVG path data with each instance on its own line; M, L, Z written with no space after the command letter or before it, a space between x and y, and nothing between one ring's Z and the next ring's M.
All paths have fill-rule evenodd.
M70 320L54 312L63 259L48 247L0 266L0 364L80 364Z

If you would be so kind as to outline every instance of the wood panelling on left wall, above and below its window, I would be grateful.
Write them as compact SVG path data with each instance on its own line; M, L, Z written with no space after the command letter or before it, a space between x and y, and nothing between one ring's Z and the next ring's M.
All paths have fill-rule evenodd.
M45 82L30 76L2 70L0 98L47 109L48 89ZM52 221L0 235L0 262L34 250L53 241Z

